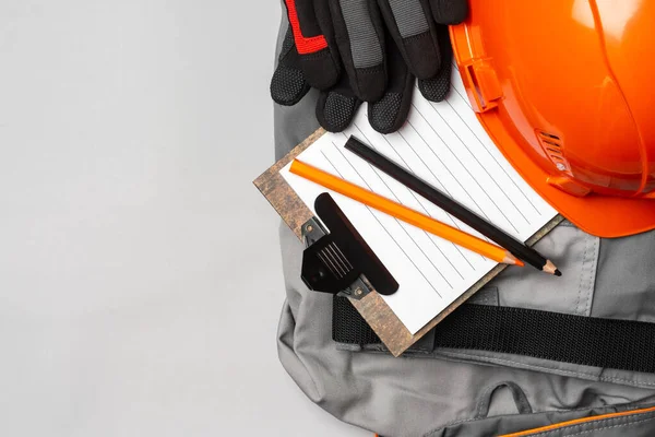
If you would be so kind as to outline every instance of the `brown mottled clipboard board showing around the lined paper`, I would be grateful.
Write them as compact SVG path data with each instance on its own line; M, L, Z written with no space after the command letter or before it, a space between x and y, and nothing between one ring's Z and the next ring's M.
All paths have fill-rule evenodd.
M326 133L326 131L323 129L317 130L302 143L298 144L294 150L291 150L285 157L275 163L271 168L269 168L254 180L255 187L261 191L262 194L264 194L264 197L269 200L269 202L300 240L302 240L302 225L314 215L286 182L284 177L279 174L279 170L295 160L300 153L305 152L307 147L313 144L324 133ZM532 246L536 244L563 220L564 217L557 215L539 232L533 235L526 241L527 245ZM446 309L433 318L416 334L412 334L409 330L405 328L403 322L395 316L389 305L386 305L386 302L384 302L382 296L378 293L372 292L361 300L356 300L353 298L349 300L355 306L357 311L364 317L364 319L370 324L373 331L376 331L382 343L384 343L389 351L397 357L505 268L507 264L497 265L471 288L464 292Z

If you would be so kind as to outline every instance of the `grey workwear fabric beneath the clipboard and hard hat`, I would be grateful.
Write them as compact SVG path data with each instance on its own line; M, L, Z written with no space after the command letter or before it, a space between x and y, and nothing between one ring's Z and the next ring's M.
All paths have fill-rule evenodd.
M294 107L275 107L277 158L318 128L315 99L312 92ZM309 292L300 280L303 248L285 224L281 245L287 293L281 362L311 401L342 421L382 436L476 437L655 404L654 374L433 347L393 358L376 353L379 346L337 345L332 297ZM655 233L600 239L564 222L537 248L557 259L564 279L509 269L476 303L655 322ZM653 436L655 412L531 435Z

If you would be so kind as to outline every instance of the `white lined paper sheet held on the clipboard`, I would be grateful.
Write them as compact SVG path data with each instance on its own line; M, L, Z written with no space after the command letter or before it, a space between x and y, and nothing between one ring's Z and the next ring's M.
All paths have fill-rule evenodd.
M428 102L416 90L407 123L398 132L389 135L376 132L364 105L348 130L324 134L298 158L484 238L345 150L350 135L522 241L557 215L496 149L471 108L456 72L453 91L445 102ZM315 198L330 190L290 174L288 167L281 174L314 211ZM331 194L398 282L398 291L383 298L413 334L496 265L477 253L344 196Z

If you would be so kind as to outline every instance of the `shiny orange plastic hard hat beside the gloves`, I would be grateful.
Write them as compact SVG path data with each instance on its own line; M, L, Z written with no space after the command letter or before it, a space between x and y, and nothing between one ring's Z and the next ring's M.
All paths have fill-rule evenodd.
M655 1L471 0L451 27L478 119L582 229L655 228Z

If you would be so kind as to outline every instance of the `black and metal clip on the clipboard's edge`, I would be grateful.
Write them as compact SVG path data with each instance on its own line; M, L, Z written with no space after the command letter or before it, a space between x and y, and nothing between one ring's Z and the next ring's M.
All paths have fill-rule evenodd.
M398 290L398 283L329 193L317 198L314 211L321 221L313 217L302 225L301 277L309 290L357 300L372 291L389 296Z

